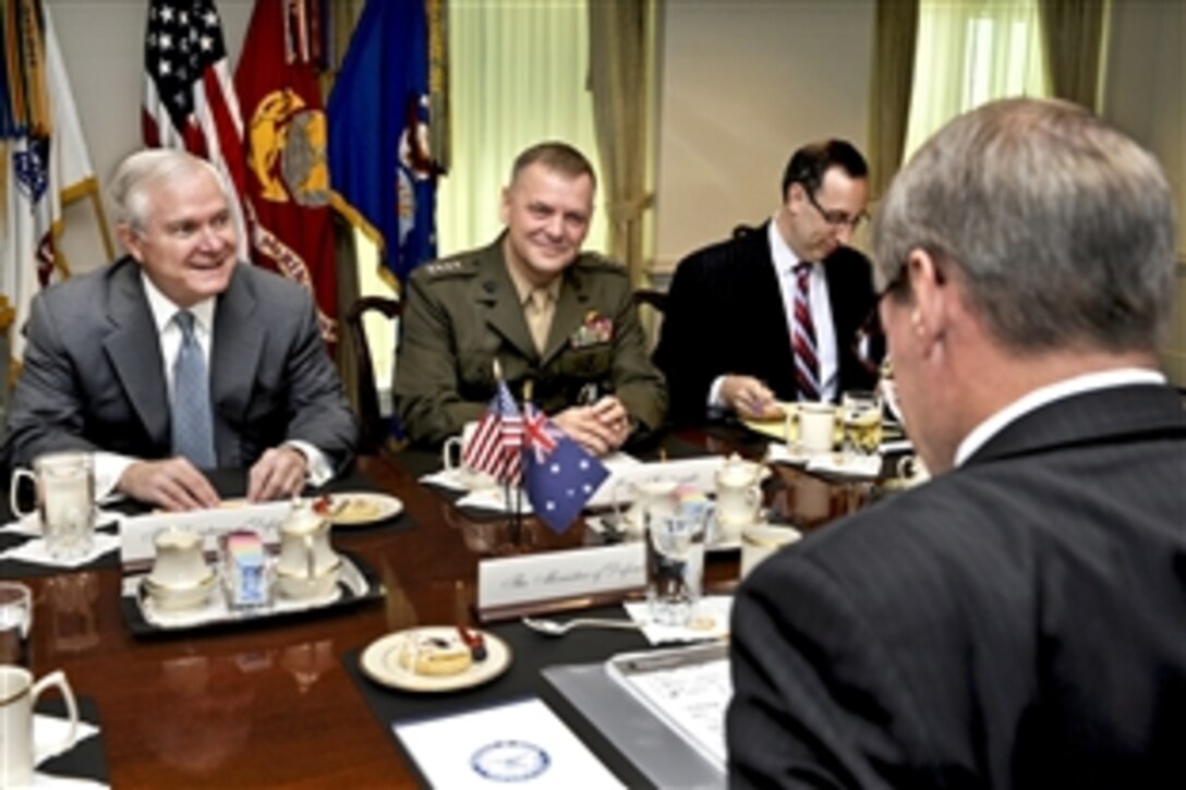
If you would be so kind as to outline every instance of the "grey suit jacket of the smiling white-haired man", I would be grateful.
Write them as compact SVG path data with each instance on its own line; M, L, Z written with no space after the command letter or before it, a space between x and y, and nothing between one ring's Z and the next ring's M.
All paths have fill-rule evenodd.
M237 266L215 311L210 381L219 466L249 466L288 439L349 463L355 420L307 289ZM32 302L5 458L28 465L56 450L172 454L160 342L130 257Z

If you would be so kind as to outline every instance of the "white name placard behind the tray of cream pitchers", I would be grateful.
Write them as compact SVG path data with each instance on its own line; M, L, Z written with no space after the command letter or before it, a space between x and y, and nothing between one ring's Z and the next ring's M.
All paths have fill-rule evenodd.
M213 508L187 512L129 516L120 524L120 562L125 568L151 565L157 556L153 540L168 527L191 529L204 537L206 554L218 550L218 536L236 529L257 531L266 543L278 543L280 524L292 510L288 502L263 502L241 508Z

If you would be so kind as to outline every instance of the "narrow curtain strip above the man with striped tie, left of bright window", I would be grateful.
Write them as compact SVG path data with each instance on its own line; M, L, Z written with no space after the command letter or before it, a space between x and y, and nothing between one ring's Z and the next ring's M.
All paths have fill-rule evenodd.
M869 78L869 193L878 199L901 166L914 84L918 0L878 0Z

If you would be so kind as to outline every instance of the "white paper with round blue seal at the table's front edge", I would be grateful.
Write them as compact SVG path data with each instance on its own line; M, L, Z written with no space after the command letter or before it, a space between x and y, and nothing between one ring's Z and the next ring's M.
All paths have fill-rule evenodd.
M535 699L393 730L434 788L624 786Z

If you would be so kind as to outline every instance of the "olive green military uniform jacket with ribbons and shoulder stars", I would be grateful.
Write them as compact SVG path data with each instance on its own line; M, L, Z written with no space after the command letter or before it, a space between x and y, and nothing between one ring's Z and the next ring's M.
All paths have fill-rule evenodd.
M427 263L408 280L394 393L409 438L440 444L482 416L498 359L511 393L547 414L617 395L649 433L667 414L667 384L646 353L625 269L591 254L563 275L543 352L506 272L503 238Z

